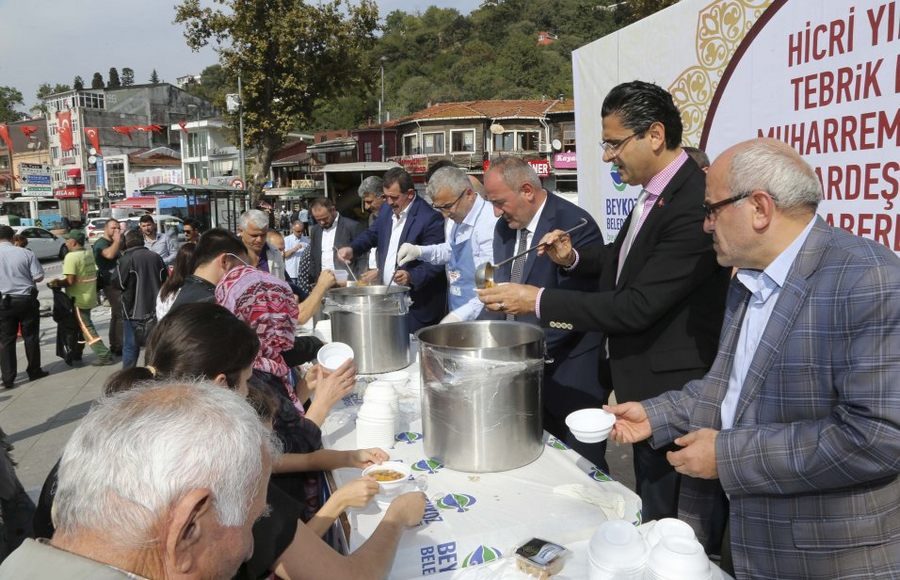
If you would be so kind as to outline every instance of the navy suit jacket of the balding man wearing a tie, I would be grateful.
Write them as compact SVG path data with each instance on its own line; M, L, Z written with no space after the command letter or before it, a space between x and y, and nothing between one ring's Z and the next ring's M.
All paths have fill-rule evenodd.
M582 218L587 219L588 223L572 232L573 244L582 246L601 243L603 237L600 228L588 212L554 193L548 193L537 230L532 236L532 245L553 230L566 230L578 225ZM515 255L518 230L511 229L506 220L499 219L494 231L494 261L500 262ZM512 262L494 272L494 281L509 282L511 273ZM538 256L535 252L528 254L525 260L522 283L548 289L591 291L597 288L595 279L570 277L549 258ZM482 310L479 318L504 319L505 315ZM517 316L516 320L540 325L533 314ZM603 344L602 334L573 331L570 327L554 325L544 329L544 336L547 354L553 360L544 370L545 409L556 417L564 418L572 411L596 405L597 401L605 401L607 391L600 384L597 372L597 359Z

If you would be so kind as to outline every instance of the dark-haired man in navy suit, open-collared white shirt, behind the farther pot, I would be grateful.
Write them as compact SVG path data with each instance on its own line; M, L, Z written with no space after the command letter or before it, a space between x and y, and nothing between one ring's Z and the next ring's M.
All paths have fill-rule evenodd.
M404 243L417 246L444 241L444 218L416 195L412 176L401 167L389 169L383 177L384 204L378 218L353 242L338 250L344 260L365 260L367 252L378 248L379 282L408 286L412 305L409 330L437 324L447 313L447 278L444 267L414 260L397 267L397 252Z

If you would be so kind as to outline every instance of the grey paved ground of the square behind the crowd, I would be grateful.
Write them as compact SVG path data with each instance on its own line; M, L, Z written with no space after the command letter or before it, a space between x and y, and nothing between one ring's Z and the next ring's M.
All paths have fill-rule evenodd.
M46 262L44 270L47 280L60 276L62 262ZM45 284L39 286L42 305L49 307L52 303L51 292ZM98 332L104 341L107 340L109 308L101 306L94 309L92 317ZM37 498L44 478L59 459L78 421L100 395L107 377L119 370L121 365L93 367L90 363L94 360L94 354L90 349L85 349L84 362L80 366L66 366L56 356L56 324L49 316L41 319L41 361L50 376L26 382L26 362L21 341L17 344L17 354L19 376L16 387L0 389L0 426L15 445L13 455L19 464L16 471L22 485L33 498ZM634 489L631 446L610 443L607 460L613 477Z

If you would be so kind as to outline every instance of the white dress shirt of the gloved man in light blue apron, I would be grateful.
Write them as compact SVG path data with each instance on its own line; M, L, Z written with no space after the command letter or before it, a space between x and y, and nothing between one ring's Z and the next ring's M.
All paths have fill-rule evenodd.
M422 255L419 259L438 266L446 264L450 261L450 255L453 252L451 241L453 244L460 244L468 240L472 247L472 260L476 267L484 263L493 264L494 228L497 225L497 217L494 215L494 208L485 207L487 205L488 203L480 195L476 196L472 209L463 218L462 223L457 224L453 220L447 220L445 239L448 241L431 246L421 246ZM472 286L474 285L475 280L472 280ZM465 306L457 308L454 314L461 320L474 320L482 308L484 308L484 303L479 300L478 296L475 296Z

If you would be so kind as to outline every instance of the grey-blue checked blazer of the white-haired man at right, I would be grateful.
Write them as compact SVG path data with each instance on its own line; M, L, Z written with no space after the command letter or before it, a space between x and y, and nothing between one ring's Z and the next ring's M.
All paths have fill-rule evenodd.
M734 427L716 442L738 578L900 570L900 260L816 222L760 339ZM732 282L709 373L645 401L653 445L721 429L749 297ZM681 484L680 517L700 531L706 483Z

